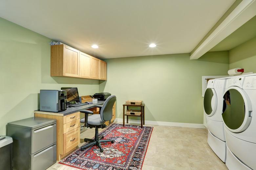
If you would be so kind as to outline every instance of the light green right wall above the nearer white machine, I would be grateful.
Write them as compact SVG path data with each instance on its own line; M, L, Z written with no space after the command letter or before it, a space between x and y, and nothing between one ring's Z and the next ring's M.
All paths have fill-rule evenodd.
M256 72L256 37L229 51L229 68L244 68L245 73Z

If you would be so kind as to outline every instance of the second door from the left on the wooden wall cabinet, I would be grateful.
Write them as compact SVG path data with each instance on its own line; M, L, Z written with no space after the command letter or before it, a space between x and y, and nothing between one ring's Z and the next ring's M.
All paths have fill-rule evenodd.
M90 78L91 77L91 57L85 53L80 52L79 57L79 77Z

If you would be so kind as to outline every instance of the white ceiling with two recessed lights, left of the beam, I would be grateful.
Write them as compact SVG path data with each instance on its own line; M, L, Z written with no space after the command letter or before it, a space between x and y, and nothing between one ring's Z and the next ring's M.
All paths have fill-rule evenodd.
M0 17L87 54L119 58L189 53L234 2L1 0Z

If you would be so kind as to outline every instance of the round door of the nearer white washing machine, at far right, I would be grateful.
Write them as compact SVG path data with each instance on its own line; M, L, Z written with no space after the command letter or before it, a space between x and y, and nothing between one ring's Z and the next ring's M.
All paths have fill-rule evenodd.
M248 95L239 87L229 88L223 96L222 119L226 128L234 133L243 132L251 123L252 106Z

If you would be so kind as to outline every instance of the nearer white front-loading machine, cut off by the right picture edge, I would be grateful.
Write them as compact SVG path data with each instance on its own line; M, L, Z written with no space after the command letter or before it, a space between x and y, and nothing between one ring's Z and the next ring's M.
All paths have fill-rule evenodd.
M226 136L226 166L256 170L256 74L227 79L222 114Z

